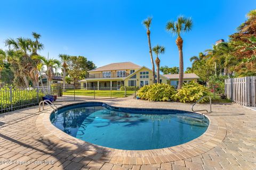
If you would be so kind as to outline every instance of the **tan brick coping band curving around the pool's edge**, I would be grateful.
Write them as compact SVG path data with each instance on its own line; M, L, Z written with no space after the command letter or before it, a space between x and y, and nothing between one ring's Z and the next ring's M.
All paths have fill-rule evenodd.
M67 105L70 104L60 107ZM219 145L225 139L227 133L224 121L205 115L210 122L209 128L200 137L187 143L163 149L121 150L94 145L68 135L51 123L51 113L52 110L45 110L36 119L36 128L45 138L49 141L61 140L62 142L58 143L59 146L77 148L81 150L82 155L86 155L91 159L113 164L148 165L196 157Z

